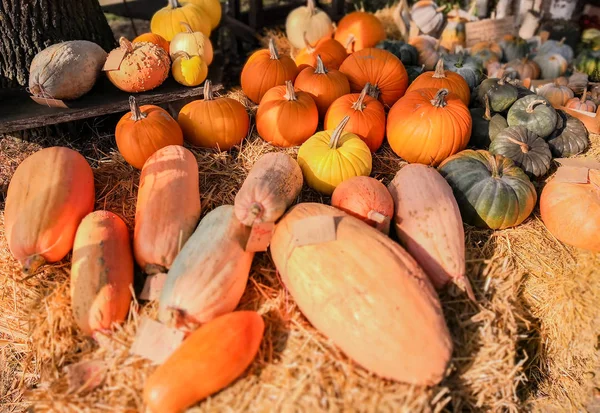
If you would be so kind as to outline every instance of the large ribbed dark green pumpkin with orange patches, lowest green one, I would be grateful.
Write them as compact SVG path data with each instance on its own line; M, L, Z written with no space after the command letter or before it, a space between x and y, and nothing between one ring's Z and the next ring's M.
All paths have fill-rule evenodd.
M537 201L535 188L513 161L467 149L438 168L450 184L465 223L505 229L522 223Z

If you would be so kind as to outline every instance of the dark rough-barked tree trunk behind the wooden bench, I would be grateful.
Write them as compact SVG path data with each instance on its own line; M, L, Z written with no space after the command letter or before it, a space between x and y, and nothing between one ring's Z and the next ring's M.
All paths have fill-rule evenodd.
M66 40L115 47L98 0L0 0L0 89L26 86L33 57Z

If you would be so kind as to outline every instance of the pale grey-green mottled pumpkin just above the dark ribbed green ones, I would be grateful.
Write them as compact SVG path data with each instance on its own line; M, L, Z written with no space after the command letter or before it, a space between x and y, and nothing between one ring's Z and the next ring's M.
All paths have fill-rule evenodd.
M529 95L517 100L506 117L508 126L525 126L545 138L556 128L556 110L545 98Z

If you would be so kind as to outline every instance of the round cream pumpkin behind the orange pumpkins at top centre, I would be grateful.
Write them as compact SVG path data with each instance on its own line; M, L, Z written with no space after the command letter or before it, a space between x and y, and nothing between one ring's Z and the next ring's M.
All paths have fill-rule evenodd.
M288 14L285 33L291 45L301 49L307 43L331 38L333 23L327 13L315 6L314 0L307 0L306 6L296 7Z

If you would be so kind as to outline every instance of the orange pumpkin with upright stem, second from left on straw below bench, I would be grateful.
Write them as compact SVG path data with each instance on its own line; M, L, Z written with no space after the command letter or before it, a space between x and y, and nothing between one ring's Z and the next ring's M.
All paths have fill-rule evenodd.
M204 82L204 99L181 108L177 122L191 144L222 151L242 143L250 129L244 105L232 98L215 97L210 80Z

